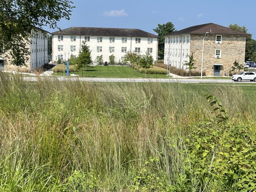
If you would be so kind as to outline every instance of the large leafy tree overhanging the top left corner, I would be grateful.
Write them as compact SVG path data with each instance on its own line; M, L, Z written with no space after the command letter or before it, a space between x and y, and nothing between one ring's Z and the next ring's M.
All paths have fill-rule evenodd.
M70 0L8 0L0 3L0 57L9 57L12 64L25 65L30 55L29 37L35 26L42 28L58 28L61 18L69 20L74 8Z

